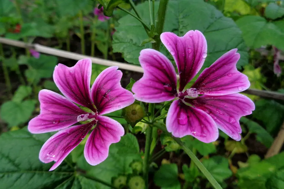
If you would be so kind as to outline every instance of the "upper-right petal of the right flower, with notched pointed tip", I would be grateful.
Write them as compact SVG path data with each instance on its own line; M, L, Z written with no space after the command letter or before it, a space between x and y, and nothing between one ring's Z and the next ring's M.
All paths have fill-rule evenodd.
M192 88L199 94L228 95L246 90L250 86L246 75L237 70L240 58L237 49L226 52L197 78Z

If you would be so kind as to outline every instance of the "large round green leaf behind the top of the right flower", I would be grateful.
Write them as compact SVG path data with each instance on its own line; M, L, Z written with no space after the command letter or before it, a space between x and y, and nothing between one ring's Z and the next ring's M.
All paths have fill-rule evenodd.
M234 21L226 18L215 7L202 0L192 0L190 6L188 3L188 0L169 1L163 31L174 32L178 36L183 36L191 29L201 31L208 46L208 56L203 69L209 67L232 48L238 48L238 52L241 54L237 67L240 68L247 64L246 46L241 31ZM148 2L138 5L136 8L141 13L142 20L146 20L150 24ZM155 3L155 10L158 10L158 3ZM149 37L141 23L130 15L124 16L118 22L119 26L115 28L116 32L113 35L113 51L122 53L126 61L139 64L140 51L144 48L151 48L150 43L142 47L140 44ZM161 51L171 58L163 46Z

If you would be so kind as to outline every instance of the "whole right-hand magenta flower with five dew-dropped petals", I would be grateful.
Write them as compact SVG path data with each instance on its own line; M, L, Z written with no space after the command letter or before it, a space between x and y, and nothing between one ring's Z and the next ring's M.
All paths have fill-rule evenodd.
M179 72L179 89L174 66L162 53L153 49L140 52L143 77L132 88L137 100L148 103L164 101L171 104L166 127L175 137L192 135L210 143L218 138L218 128L235 140L240 140L239 119L254 110L254 103L237 94L249 88L244 74L237 71L240 58L237 49L221 56L205 68L189 88L191 79L201 69L207 56L206 39L200 31L189 31L183 37L165 32L161 41L172 54Z

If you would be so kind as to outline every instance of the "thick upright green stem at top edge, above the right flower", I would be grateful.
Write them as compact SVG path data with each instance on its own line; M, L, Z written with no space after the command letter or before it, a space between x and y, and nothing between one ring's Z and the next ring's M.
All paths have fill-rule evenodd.
M160 44L161 44L160 35L163 32L163 28L164 28L168 1L169 0L160 0L159 9L157 13L158 16L157 16L157 21L156 21L155 32L158 33L158 35L154 37L156 43L152 43L152 48L157 51L160 50Z

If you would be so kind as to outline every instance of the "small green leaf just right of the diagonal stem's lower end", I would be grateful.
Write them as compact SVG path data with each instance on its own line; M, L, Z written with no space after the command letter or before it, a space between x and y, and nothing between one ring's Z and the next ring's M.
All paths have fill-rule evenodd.
M232 171L229 169L229 162L226 158L213 156L212 158L204 159L202 163L217 182L221 183L232 175Z

